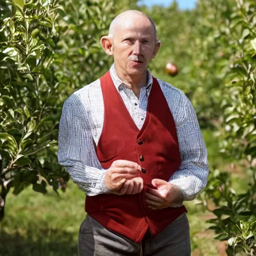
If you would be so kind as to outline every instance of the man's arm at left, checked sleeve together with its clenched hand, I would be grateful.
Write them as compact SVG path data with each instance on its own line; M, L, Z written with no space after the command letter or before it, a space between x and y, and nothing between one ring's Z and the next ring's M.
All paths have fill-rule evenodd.
M98 161L94 140L78 95L64 103L59 123L58 161L87 194L134 194L143 188L141 167L131 161L116 160L109 169Z

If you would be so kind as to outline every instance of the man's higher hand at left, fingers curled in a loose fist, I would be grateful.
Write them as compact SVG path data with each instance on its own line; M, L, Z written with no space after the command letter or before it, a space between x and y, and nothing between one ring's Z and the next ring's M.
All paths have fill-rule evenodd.
M113 161L105 174L106 187L115 194L135 194L143 189L141 167L132 161Z

